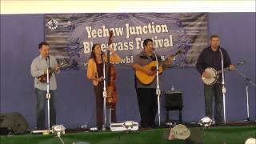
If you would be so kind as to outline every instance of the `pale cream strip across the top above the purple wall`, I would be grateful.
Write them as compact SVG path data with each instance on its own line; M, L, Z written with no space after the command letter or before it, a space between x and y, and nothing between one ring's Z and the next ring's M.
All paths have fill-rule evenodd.
M255 12L254 0L1 0L1 14L101 13L101 12Z

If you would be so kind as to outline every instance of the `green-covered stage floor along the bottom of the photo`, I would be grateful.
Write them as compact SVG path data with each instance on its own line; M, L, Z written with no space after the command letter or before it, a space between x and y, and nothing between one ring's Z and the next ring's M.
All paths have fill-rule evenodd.
M256 126L212 126L207 130L202 130L202 127L189 127L191 136L190 139L194 143L212 143L212 144L242 144L247 138L256 137ZM66 144L73 142L89 142L89 143L186 143L183 140L167 140L169 135L168 128L159 128L151 130L138 130L126 132L78 132L63 134L61 138ZM22 134L0 136L2 144L13 143L62 143L55 134Z

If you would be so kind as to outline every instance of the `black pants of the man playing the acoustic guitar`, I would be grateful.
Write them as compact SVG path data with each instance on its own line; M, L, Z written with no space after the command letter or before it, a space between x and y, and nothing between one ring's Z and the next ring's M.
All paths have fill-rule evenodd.
M154 127L154 118L158 109L158 97L155 89L136 88L138 107L142 127Z

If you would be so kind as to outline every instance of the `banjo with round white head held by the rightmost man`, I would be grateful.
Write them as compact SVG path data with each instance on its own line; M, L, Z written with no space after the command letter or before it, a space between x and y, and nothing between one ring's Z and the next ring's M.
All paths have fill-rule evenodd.
M234 66L240 66L242 64L246 63L246 61L241 61L235 64ZM224 70L230 70L230 67L224 68ZM206 85L214 85L216 82L218 82L218 74L222 73L222 70L215 70L213 67L207 67L205 72L210 74L210 78L205 78L202 75L202 82L204 82Z

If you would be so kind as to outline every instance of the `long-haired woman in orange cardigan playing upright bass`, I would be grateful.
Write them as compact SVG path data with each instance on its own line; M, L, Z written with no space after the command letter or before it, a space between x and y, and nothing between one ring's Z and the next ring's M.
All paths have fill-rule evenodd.
M110 62L118 63L121 58L114 52L109 45L108 50L110 50ZM97 116L97 126L100 130L103 124L103 60L106 62L106 54L102 54L102 49L99 44L94 44L92 46L92 52L90 54L90 59L87 67L87 78L93 82L94 94L96 97L96 116ZM110 85L108 85L110 86ZM109 88L107 88L110 90ZM111 88L113 90L113 88ZM107 97L110 97L114 92L108 91ZM108 100L106 100L108 102ZM114 104L115 105L115 104ZM116 122L115 108L111 112L112 122Z

